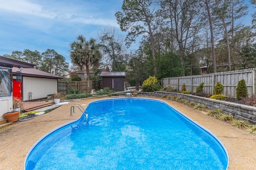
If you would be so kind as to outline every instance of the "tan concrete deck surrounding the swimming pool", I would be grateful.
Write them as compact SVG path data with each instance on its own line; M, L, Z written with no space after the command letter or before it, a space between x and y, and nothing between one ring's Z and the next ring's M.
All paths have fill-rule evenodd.
M88 106L91 102L103 99L113 98L74 101L60 106L49 113L34 117L34 119L15 122L8 127L0 129L0 170L24 169L26 155L40 137L52 129L80 117L81 112L78 108L75 108L76 113L73 113L73 116L69 116L70 107L73 104L78 102ZM229 170L256 169L255 135L246 133L242 129L238 129L231 126L229 123L222 122L207 115L204 111L194 110L192 107L184 104L160 98L150 99L166 102L214 133L214 135L222 141L228 151Z

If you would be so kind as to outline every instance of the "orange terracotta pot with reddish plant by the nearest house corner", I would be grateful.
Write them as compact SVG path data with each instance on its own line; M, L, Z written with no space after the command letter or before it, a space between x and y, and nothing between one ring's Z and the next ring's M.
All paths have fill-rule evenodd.
M12 98L12 111L8 113L4 113L3 116L7 120L7 122L18 121L18 117L20 114L20 110L22 108L22 103L19 98Z

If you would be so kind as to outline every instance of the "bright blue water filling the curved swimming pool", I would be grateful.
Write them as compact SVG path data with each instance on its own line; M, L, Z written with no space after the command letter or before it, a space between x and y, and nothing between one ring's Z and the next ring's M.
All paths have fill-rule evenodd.
M25 170L227 169L220 140L164 102L100 100L86 111L88 119L82 114L42 137L30 149Z

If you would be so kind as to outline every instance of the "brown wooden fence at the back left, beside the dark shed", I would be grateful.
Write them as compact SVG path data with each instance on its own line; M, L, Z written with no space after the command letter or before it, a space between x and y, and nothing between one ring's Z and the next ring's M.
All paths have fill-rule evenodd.
M98 90L102 87L102 80L91 80L90 89L88 88L88 81L62 81L58 80L58 92L62 95L67 95L71 89L81 90L81 93L91 93L92 89Z

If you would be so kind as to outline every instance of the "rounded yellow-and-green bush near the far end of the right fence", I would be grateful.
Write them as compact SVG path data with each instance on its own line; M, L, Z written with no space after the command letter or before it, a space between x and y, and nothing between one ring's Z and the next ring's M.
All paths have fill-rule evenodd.
M161 88L160 83L155 76L149 76L147 80L144 80L142 86L142 92L154 92Z

